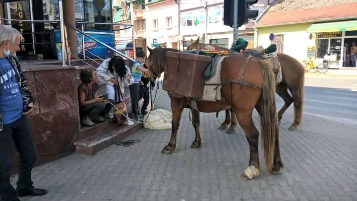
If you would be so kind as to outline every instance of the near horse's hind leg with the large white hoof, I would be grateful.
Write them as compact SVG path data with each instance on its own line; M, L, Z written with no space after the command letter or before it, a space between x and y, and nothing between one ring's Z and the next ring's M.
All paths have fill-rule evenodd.
M241 177L243 179L253 179L260 174L260 164L259 164L259 153L258 153L258 143L259 143L259 132L256 129L254 122L251 117L251 113L239 114L236 111L236 117L240 127L243 129L244 134L249 143L249 166L243 171Z

